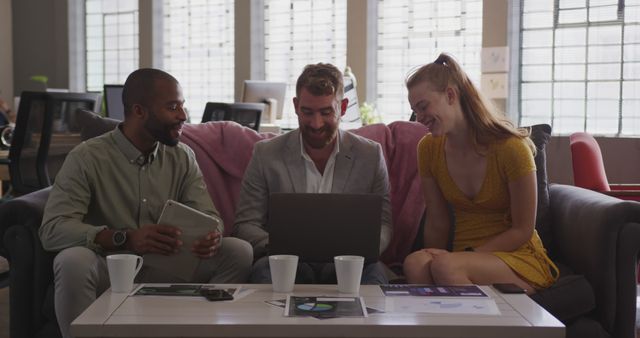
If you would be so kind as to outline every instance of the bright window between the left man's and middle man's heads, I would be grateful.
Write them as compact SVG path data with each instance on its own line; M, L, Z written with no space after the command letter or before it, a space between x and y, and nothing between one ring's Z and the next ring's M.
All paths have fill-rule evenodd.
M200 122L207 102L234 102L234 1L164 0L163 11L163 66Z

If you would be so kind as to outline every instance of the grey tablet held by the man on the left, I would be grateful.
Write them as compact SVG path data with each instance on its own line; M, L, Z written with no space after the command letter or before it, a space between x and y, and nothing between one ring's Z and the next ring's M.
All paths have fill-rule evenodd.
M184 281L191 280L200 262L200 258L191 252L193 242L211 231L218 230L222 221L218 217L168 200L162 209L158 224L180 228L182 230L182 236L180 236L182 247L179 252L167 256L146 254L144 255L144 265L164 270Z

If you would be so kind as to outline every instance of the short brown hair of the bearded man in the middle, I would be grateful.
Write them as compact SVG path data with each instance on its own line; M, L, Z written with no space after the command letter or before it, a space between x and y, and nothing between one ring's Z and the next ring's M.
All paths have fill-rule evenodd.
M330 63L318 63L304 67L296 83L296 96L302 89L315 96L335 95L337 100L344 96L342 73Z

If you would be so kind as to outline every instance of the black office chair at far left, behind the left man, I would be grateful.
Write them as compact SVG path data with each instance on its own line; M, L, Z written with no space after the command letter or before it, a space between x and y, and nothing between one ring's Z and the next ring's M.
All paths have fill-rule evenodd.
M81 142L76 109L93 110L99 96L97 93L22 93L9 148L14 194L26 194L52 184L69 151Z

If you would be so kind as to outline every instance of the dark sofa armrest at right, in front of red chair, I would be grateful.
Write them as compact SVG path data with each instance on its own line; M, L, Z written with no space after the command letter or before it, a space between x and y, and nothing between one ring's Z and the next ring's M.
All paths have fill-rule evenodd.
M549 187L553 259L593 287L596 318L615 337L635 337L640 203L574 186Z

